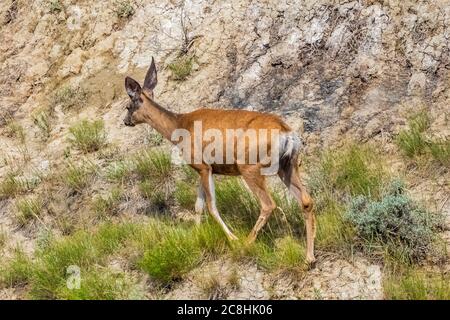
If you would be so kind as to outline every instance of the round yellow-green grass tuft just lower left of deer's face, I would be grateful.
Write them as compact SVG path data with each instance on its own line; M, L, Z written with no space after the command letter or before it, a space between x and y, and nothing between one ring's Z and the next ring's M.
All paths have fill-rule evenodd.
M82 120L69 128L70 142L84 153L97 151L106 145L105 124L103 120L90 122Z

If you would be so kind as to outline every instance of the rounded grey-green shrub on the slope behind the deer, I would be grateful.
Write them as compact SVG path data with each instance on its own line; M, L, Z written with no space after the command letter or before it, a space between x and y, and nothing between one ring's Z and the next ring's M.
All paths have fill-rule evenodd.
M346 217L369 245L387 245L389 251L400 251L408 260L424 258L430 252L443 223L441 215L413 202L399 181L390 185L381 200L353 199Z

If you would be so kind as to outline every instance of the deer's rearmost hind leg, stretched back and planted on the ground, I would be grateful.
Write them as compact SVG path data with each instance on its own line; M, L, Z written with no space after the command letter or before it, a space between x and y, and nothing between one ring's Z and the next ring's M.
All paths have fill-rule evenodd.
M316 261L314 257L316 217L313 212L313 201L300 179L296 161L292 162L291 168L281 169L278 175L303 208L306 225L306 261L314 264Z

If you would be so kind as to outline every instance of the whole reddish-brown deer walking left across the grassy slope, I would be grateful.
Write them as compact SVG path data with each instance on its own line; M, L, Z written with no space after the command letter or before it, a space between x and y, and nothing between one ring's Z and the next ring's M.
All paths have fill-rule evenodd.
M259 217L246 240L248 244L251 244L256 240L258 233L267 223L272 212L277 208L267 187L266 177L278 175L302 208L306 229L306 262L310 266L314 266L316 219L313 212L313 200L300 178L298 158L301 140L297 134L278 115L270 113L210 108L200 108L188 113L172 112L155 101L154 89L157 82L157 71L153 57L142 87L133 78L129 76L125 78L125 89L130 98L123 121L125 126L134 127L138 124L147 123L172 144L175 144L173 132L176 130L183 129L194 135L195 122L201 122L202 132L208 129L218 130L220 133L225 133L226 130L230 129L243 130L244 132L246 130L277 130L279 132L278 155L271 157L271 161L269 161L277 162L278 169L270 174L263 174L262 169L271 166L273 163L267 163L267 159L263 162L261 158L252 163L245 161L211 162L202 159L198 162L192 163L191 161L188 163L199 174L195 212L202 213L206 205L207 211L220 225L229 241L237 240L237 237L224 223L218 212L213 175L241 176L260 204ZM241 142L245 145L248 136L238 135L234 136L233 139L235 142ZM205 143L205 141L201 141L202 146ZM264 143L267 150L275 150L273 139L264 139ZM250 151L251 149L245 145L245 159L249 158L248 153ZM236 150L232 151L232 153L235 152ZM192 157L192 153L188 155L190 160Z

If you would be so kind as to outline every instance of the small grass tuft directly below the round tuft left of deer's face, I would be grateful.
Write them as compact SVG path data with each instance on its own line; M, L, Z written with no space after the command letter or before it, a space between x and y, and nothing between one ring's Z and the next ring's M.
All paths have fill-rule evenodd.
M81 193L92 178L95 167L91 163L74 164L68 162L61 176L63 183L73 192Z

